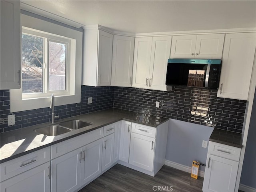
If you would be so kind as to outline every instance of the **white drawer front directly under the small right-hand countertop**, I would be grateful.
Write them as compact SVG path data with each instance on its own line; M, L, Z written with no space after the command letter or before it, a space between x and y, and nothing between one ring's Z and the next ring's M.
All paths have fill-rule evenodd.
M208 154L214 154L227 159L239 161L241 149L216 142L209 142Z

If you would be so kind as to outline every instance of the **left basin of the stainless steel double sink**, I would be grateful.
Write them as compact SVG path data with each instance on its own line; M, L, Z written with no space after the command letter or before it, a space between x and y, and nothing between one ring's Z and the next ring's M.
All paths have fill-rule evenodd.
M48 136L56 136L70 132L72 130L58 125L50 125L47 127L35 129L34 131Z

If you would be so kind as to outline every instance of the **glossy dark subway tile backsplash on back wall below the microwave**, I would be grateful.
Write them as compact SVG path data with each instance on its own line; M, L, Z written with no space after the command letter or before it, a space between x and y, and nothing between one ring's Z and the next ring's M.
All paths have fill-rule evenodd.
M156 101L160 102L156 108ZM116 87L114 108L242 132L246 101L218 98L216 90L172 87L170 91Z

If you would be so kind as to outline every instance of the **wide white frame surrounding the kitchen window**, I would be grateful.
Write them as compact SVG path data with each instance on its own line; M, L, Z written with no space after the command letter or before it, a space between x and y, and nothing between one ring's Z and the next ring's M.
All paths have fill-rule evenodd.
M82 32L24 14L21 14L21 26L24 33L68 43L66 90L37 94L22 94L22 88L10 90L10 112L49 107L52 93L56 96L56 106L81 102Z

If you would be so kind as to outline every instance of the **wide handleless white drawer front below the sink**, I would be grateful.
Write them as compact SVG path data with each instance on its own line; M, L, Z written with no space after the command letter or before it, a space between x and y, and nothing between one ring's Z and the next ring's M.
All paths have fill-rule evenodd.
M52 159L103 137L103 127L52 145Z

